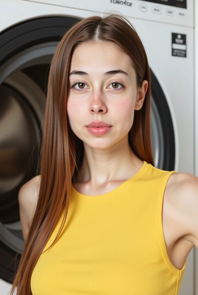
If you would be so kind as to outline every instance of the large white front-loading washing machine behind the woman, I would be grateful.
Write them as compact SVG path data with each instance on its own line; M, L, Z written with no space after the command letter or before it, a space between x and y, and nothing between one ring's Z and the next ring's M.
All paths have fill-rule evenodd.
M23 252L18 192L35 176L52 56L73 24L108 11L129 19L148 56L155 166L195 173L193 0L1 0L1 295L9 294ZM195 247L187 258L180 295L195 294L194 266Z

